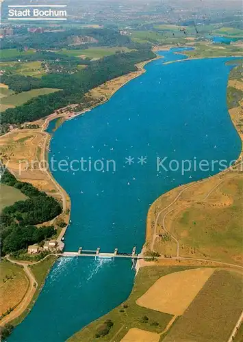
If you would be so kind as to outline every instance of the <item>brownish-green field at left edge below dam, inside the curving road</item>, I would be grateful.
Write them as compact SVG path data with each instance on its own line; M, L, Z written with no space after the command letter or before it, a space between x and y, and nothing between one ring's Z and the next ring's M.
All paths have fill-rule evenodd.
M1 260L0 273L0 316L18 305L25 296L29 281L21 266Z

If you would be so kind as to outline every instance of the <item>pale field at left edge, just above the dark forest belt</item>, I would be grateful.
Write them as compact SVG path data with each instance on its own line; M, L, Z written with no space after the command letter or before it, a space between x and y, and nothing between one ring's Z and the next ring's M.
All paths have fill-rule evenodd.
M0 69L23 76L42 77L45 74L41 62L0 62Z

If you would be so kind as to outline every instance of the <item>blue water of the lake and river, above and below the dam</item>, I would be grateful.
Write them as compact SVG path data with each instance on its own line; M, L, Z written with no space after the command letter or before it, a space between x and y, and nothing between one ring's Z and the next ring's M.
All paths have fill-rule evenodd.
M71 225L66 250L101 247L101 252L131 252L144 244L146 213L160 194L181 183L219 171L156 168L168 160L236 159L241 142L230 120L226 88L231 58L182 59L173 51L146 66L111 100L65 122L51 140L51 157L114 160L116 170L53 170L71 196ZM134 163L129 166L126 157ZM146 163L138 163L138 157ZM75 162L77 167L77 162ZM165 163L168 167L168 163ZM175 166L172 166L173 169ZM127 298L133 285L131 261L60 259L47 278L31 313L9 341L61 342Z

